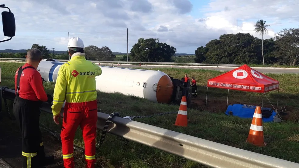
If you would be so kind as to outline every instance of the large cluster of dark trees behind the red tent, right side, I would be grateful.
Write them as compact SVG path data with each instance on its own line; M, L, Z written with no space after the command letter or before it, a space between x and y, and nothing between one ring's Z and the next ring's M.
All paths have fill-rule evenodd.
M263 45L261 45L263 42ZM263 50L262 50L263 49ZM261 40L249 33L224 34L195 50L196 63L298 65L299 29Z

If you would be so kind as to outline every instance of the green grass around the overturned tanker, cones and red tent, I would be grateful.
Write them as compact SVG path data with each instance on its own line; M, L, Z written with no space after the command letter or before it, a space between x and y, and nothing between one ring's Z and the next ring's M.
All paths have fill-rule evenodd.
M3 63L1 86L14 87L15 70L22 64ZM143 68L144 69L144 68ZM223 72L212 70L190 70L190 69L151 69L160 70L168 75L180 79L184 74L189 77L195 76L199 86L199 100L205 102L206 82L208 79L218 76ZM267 75L267 74L266 74ZM134 119L138 122L158 126L161 128L185 133L202 139L207 139L217 143L234 146L244 150L261 153L268 156L277 157L284 160L299 163L299 125L298 125L298 109L299 109L299 75L282 75L269 74L268 76L277 79L280 82L279 107L285 106L289 115L284 118L281 123L263 123L264 139L268 143L264 147L256 147L245 142L252 119L241 119L234 116L226 116L226 98L227 90L212 89L208 91L208 112L202 111L199 105L198 109L188 109L188 127L181 128L173 126L176 114L157 116L146 119ZM44 83L44 87L48 94L53 94L53 83ZM273 106L276 108L277 91L266 93ZM136 98L134 96L124 96L122 94L98 93L100 103L98 107L103 113L111 114L119 112L122 116L133 115L150 115L154 113L177 111L179 106L168 104L157 104L149 102L145 99ZM250 92L230 91L229 103L244 103L250 105L260 105L262 95ZM272 107L270 102L264 97L264 106ZM225 108L225 109L224 109ZM284 108L284 107L283 107ZM51 128L60 131L61 125L53 122L52 116L46 113L41 115L42 123ZM98 136L100 131L98 132ZM80 128L77 130L75 143L84 146ZM61 155L61 153L58 154ZM83 155L76 153L76 160L79 163L84 162ZM139 143L129 142L126 146L124 142L117 136L107 134L104 144L97 153L99 167L132 167L132 168L198 168L206 167L198 163L186 160L184 158L150 148Z

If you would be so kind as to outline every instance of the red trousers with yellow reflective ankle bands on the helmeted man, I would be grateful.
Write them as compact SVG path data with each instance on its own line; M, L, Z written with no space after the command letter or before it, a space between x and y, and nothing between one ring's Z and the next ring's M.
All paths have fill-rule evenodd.
M65 168L74 168L74 136L78 126L82 130L85 144L85 167L94 168L95 138L98 106L96 100L82 103L66 103L61 129L62 155Z

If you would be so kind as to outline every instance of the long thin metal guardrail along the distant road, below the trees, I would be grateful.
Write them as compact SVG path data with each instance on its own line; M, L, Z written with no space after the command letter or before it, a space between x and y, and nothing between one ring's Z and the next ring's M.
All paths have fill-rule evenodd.
M7 61L26 61L24 58L0 58L1 60L7 60ZM57 59L60 62L67 62L68 59ZM190 65L190 66L233 66L233 67L239 67L241 65L235 65L235 64L201 64L201 63L183 63L183 62L126 62L126 61L91 61L96 63L115 63L115 64L156 64L156 65Z

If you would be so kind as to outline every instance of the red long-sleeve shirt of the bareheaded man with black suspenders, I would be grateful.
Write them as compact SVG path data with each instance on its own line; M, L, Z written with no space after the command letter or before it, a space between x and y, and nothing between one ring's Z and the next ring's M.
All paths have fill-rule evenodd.
M31 66L26 63L22 68ZM32 66L33 67L33 66ZM18 71L15 72L15 90L17 90L17 77ZM43 87L42 77L40 73L33 67L23 70L23 74L20 78L20 89L19 96L23 99L32 100L32 101L47 101L48 97Z

